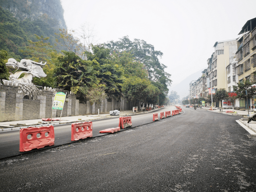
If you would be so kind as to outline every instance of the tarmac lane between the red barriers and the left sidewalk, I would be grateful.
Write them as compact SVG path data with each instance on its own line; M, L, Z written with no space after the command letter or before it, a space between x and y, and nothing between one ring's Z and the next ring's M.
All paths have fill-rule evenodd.
M173 106L166 107L154 111L153 113L158 113L160 120L161 112L173 110L173 108ZM132 115L132 127L152 123L153 113ZM71 124L72 123L54 125L55 141L54 146L51 147L73 143L71 141ZM116 128L118 127L118 125L119 116L108 119L92 120L92 135L93 137L100 137L106 135L106 133L99 133L99 131L108 128ZM121 129L121 131L124 131L124 129ZM34 152L35 150L28 152ZM44 148L41 148L39 150L44 150ZM19 152L19 130L0 132L0 159L21 155L24 153L27 152Z

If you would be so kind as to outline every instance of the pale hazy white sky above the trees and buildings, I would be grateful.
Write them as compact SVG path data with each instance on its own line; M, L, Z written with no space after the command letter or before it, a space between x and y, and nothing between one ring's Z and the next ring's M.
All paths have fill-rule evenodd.
M247 20L256 17L256 0L61 2L68 29L78 29L87 22L94 26L97 43L117 41L128 35L131 41L141 39L162 51L160 61L167 66L166 72L172 74L172 87L207 68L215 42L238 38Z

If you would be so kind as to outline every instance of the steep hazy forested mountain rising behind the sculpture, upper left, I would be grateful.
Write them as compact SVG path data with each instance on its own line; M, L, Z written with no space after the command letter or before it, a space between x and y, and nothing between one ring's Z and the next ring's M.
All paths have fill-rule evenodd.
M0 49L8 58L25 58L24 47L36 41L35 34L49 37L53 46L60 28L66 28L60 0L0 0Z

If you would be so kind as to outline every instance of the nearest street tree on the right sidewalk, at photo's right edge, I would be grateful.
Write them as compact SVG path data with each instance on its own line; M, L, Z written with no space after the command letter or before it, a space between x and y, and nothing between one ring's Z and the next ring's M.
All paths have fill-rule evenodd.
M236 98L245 99L247 104L247 110L249 114L248 99L251 99L255 95L256 87L252 86L255 82L250 80L239 81L237 86L233 86L234 91L237 93Z

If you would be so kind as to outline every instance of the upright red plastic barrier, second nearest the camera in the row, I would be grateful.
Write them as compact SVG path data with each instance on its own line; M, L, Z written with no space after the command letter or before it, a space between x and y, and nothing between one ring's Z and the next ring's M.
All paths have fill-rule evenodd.
M92 122L72 123L71 141L92 137Z

